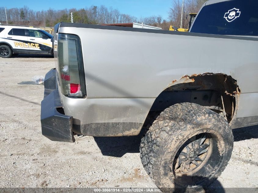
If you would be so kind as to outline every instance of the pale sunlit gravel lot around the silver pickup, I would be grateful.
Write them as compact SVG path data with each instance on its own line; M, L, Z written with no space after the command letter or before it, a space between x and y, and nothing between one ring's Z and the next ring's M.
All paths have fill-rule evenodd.
M18 84L45 75L53 58L0 58L0 187L156 187L139 155L140 136L75 137L54 142L41 134L43 85ZM234 131L223 187L258 187L258 127Z

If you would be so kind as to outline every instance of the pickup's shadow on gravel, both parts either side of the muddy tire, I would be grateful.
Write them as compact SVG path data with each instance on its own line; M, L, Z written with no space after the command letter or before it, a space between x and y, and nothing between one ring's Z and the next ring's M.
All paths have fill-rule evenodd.
M122 157L126 153L139 153L140 141L144 130L137 136L128 137L94 137L103 155ZM258 126L233 129L234 141L258 138Z

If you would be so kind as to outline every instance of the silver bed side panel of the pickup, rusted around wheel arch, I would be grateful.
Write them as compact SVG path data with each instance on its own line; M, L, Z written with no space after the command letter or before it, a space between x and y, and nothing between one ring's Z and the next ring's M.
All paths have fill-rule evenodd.
M59 33L76 34L82 44L87 98L60 93L65 114L76 124L143 123L173 80L207 72L237 80L237 117L258 116L258 110L248 110L258 105L257 38L79 27L60 27Z

